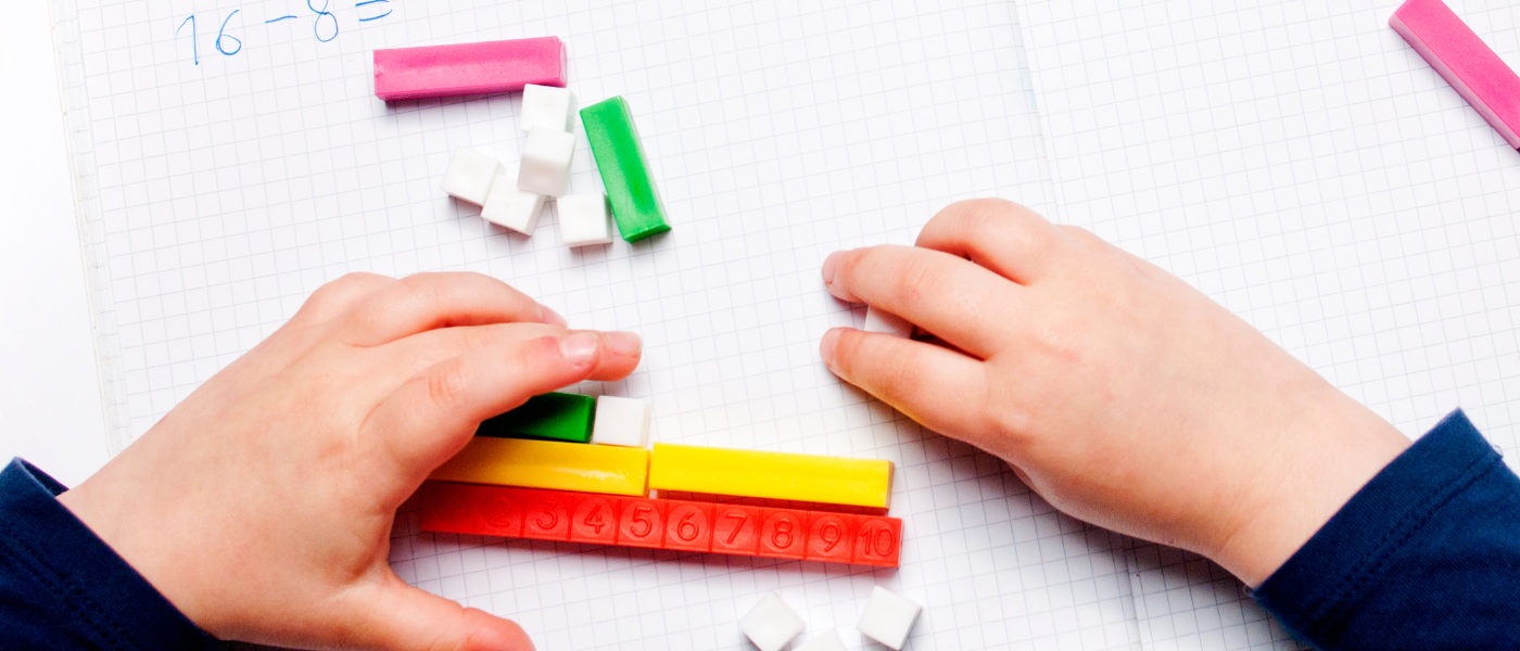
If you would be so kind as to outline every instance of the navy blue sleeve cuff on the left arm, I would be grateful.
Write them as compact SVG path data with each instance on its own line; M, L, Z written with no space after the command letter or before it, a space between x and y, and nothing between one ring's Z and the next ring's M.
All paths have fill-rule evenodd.
M20 458L0 470L0 649L211 649Z

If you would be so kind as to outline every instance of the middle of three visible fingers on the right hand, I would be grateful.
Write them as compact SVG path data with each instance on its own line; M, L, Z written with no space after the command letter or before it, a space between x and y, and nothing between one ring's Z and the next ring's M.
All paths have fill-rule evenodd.
M910 246L834 252L824 261L824 284L841 300L886 310L983 360L1008 340L1023 305L1023 287L1006 278Z

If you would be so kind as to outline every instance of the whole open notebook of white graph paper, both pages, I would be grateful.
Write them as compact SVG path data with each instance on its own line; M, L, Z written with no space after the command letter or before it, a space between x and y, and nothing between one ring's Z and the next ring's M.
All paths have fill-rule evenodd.
M1520 53L1515 9L1452 6ZM866 648L874 584L927 605L912 649L1292 646L1218 568L1055 513L819 364L827 328L863 322L824 293L822 258L910 243L956 199L1015 199L1157 261L1411 436L1461 405L1515 448L1520 161L1386 29L1392 3L53 8L114 449L325 281L474 270L641 332L638 372L575 390L651 399L655 440L895 461L898 571L398 517L403 578L540 648L748 648L736 622L768 590ZM517 158L520 96L372 96L374 49L541 35L584 103L628 100L670 234L570 250L552 208L532 238L489 226L436 184L458 147ZM597 191L578 141L572 191Z

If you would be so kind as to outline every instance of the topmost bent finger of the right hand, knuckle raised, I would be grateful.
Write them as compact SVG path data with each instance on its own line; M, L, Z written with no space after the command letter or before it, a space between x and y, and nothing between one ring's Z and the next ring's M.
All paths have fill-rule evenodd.
M918 234L918 246L970 258L1009 281L1028 285L1072 238L1029 208L1002 199L956 202Z

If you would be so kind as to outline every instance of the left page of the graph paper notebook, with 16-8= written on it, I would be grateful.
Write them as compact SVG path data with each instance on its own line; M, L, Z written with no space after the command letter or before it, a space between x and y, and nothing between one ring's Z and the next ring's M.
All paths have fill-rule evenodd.
M865 648L879 583L927 605L914 649L1137 643L1128 540L816 357L863 317L822 290L828 252L912 241L956 199L1050 206L1012 5L319 2L58 2L117 446L325 281L476 270L572 325L641 332L637 373L578 388L651 399L657 440L897 461L903 566L433 536L403 513L407 581L553 649L745 648L736 622L766 590L804 639ZM458 147L517 159L520 97L371 94L374 49L538 35L567 41L582 106L628 99L673 232L570 250L552 208L532 238L488 226L438 181ZM599 188L584 137L572 185Z

